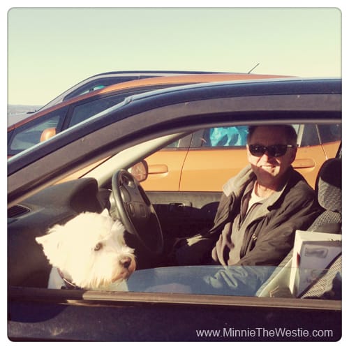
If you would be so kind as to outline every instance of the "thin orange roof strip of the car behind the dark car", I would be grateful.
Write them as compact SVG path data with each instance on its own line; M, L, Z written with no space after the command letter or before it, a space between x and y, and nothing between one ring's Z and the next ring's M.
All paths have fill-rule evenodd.
M270 75L270 74L244 74L244 73L200 73L200 74L186 74L186 75L168 75L160 77L148 77L141 80L131 80L127 82L119 82L118 84L112 84L110 86L104 87L103 89L98 89L96 91L89 92L87 94L82 94L74 98L70 98L68 101L63 101L52 105L44 110L38 110L30 117L22 119L10 124L8 126L8 131L13 130L27 122L43 117L44 115L58 110L61 107L66 107L80 101L84 101L88 98L99 96L103 94L111 94L112 92L135 89L137 87L154 87L161 88L161 85L167 84L195 84L202 82L218 82L218 81L230 81L230 80L260 80L260 79L272 79L276 77L288 77L288 75Z

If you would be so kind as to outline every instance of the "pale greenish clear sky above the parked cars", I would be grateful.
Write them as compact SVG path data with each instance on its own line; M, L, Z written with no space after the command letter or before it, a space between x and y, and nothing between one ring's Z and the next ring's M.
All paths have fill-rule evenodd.
M244 73L259 63L253 73L338 77L341 10L14 7L8 103L43 105L111 70Z

